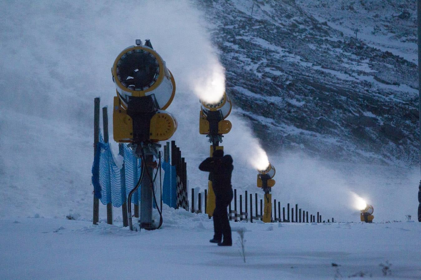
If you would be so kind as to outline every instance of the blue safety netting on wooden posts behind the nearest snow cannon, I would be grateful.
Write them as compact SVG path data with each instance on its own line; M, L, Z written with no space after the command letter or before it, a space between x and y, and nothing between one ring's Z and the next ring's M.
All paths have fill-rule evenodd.
M127 201L128 194L136 186L141 174L141 160L125 144L119 146L119 156L123 157L121 168L115 163L109 143L105 143L101 131L96 146L96 156L92 165L92 184L95 196L102 204L111 203L120 207ZM163 203L170 207L177 204L176 167L161 159L164 171ZM157 199L159 199L157 197ZM131 202L139 204L140 186L133 193Z

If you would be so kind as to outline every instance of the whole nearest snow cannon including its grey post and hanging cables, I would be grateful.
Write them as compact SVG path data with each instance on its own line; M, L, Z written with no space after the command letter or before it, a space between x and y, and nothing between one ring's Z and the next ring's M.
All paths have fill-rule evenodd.
M141 40L136 40L136 46L120 52L111 72L117 89L113 108L114 140L131 143L133 152L142 162L139 181L128 196L130 229L133 230L131 196L139 186L140 228L159 228L162 225L162 209L158 206L160 224L156 226L152 223L152 199L158 205L152 168L156 167L154 157L159 158L161 145L158 142L169 139L177 128L176 120L164 111L174 98L176 83L149 40L144 45Z

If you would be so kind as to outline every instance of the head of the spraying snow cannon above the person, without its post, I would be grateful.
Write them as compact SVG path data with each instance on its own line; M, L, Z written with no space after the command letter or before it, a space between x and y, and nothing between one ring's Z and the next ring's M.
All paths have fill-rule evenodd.
M231 108L231 100L225 92L221 100L216 103L210 104L201 100L199 133L207 135L228 133L232 128L232 124L225 118L231 113Z

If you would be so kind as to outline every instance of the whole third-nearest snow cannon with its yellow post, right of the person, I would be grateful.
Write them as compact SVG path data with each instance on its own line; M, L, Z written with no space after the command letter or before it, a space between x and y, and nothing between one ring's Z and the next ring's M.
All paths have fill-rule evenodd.
M272 222L272 194L270 194L270 191L275 185L275 180L272 179L275 173L275 168L269 163L265 170L258 170L257 174L257 187L264 191L263 222Z

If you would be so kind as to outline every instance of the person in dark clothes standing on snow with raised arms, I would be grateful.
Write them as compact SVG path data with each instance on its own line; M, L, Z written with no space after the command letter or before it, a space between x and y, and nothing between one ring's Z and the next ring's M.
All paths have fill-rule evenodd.
M213 211L215 234L210 242L218 243L219 246L232 246L231 227L226 211L226 207L231 203L233 197L231 174L234 166L232 165L232 157L229 154L224 156L223 150L216 150L213 152L213 157L208 157L200 163L199 169L209 172L209 180L212 181L216 198L216 206ZM222 237L224 237L223 242Z

